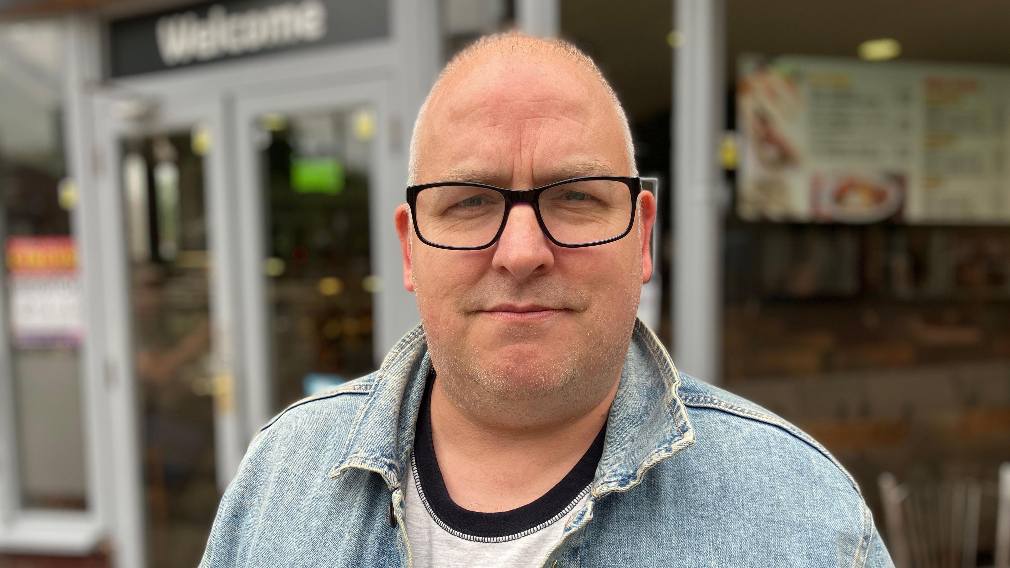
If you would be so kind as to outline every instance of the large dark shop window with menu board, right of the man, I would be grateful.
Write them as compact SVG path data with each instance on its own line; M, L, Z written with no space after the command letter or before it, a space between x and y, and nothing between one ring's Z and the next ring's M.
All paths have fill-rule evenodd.
M1010 11L949 13L727 3L725 384L827 446L879 525L882 472L995 480L1010 455L1010 54L990 25Z

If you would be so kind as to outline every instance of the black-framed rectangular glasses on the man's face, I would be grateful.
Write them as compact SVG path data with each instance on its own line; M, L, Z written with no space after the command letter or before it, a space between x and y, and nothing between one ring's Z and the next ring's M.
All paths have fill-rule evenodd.
M533 207L543 233L559 247L593 247L622 239L634 224L642 180L590 176L515 191L470 182L407 188L414 231L425 245L476 251L494 245L516 203Z

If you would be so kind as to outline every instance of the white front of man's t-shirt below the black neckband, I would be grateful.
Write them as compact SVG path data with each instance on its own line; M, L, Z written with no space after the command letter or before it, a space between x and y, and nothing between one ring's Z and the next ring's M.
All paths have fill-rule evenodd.
M418 492L414 468L407 476L405 520L414 568L535 567L562 539L568 514L589 497L589 487L546 525L498 538L466 535L439 519Z

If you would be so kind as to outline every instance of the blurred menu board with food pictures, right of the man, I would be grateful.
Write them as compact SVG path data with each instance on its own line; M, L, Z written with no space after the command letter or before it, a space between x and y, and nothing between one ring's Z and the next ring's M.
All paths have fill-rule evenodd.
M739 61L748 220L1010 221L1010 69Z

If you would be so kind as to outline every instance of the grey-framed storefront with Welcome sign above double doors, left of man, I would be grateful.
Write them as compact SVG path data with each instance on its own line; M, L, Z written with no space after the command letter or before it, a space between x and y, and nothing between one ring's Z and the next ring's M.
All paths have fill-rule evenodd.
M59 68L33 124L53 158L5 172L45 207L8 204L27 220L6 241L23 260L8 261L0 546L195 565L259 427L372 371L419 319L391 211L437 12L95 4L10 24L47 32Z

